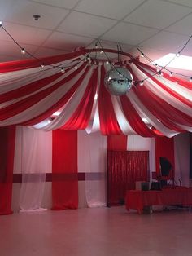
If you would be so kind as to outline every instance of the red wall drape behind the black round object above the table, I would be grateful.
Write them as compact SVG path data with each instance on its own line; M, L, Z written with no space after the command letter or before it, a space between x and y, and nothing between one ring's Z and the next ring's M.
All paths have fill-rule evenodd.
M175 166L174 157L174 137L156 137L155 138L155 161L156 173L160 173L159 157L166 157L172 163L173 170Z

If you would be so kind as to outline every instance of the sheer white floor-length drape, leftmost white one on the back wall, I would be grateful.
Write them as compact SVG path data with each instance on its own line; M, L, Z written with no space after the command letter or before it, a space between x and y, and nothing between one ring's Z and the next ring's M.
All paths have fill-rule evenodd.
M19 126L16 132L15 172L22 174L20 211L44 210L46 173L52 166L52 133Z

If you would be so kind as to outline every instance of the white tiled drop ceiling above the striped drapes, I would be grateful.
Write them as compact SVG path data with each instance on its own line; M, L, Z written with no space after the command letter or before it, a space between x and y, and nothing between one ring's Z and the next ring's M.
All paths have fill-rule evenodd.
M125 47L127 45L128 49L137 45L147 48L146 45L148 44L148 48L155 51L168 51L170 46L167 49L163 47L163 50L159 47L162 39L159 40L158 38L161 37L162 32L164 32L164 42L167 45L172 35L173 38L177 38L176 34L181 35L180 38L184 35L184 38L190 36L187 33L190 32L190 21L192 21L192 4L190 5L190 1L187 0L153 0L153 4L152 0L94 0L93 2L90 0L7 0L5 2L7 8L11 2L16 2L17 7L12 8L12 14L8 13L7 17L5 17L5 27L15 40L34 47L37 55L41 54L41 52L46 52L46 49L47 55L49 55L49 48L52 50L51 55L54 49L56 54L60 51L72 51L73 46L93 44L97 38L111 43L120 42ZM162 13L166 12L170 6L173 8L172 12L170 17L167 17L167 20L162 16L163 21L161 24L155 24L155 22L147 24L146 11L143 12L142 10L147 10L147 7L151 7L152 10L149 11L153 11L155 2L158 4L156 7L161 7ZM97 8L94 5L96 3ZM109 6L109 4L111 5ZM106 7L101 8L103 5ZM186 7L187 5L190 7ZM2 8L2 3L0 3L0 7ZM127 11L125 7L129 10ZM175 16L173 15L174 10L177 10L177 15ZM38 13L38 11L44 11L41 17L42 20L37 22L33 20L33 14L36 14L34 11L37 11L36 13L39 15L41 13ZM88 25L85 29L82 26L80 26L80 29L76 28L76 24L73 23L73 20L78 21L76 15L81 15L81 20L93 25ZM136 16L138 16L138 19L135 18ZM106 24L102 22L103 20L105 20ZM144 22L143 20L146 21ZM103 28L101 26L102 23ZM187 27L185 31L182 30L184 25ZM2 41L2 44L3 41L10 41L10 39L5 34L0 34L0 41ZM4 48L6 46L5 42ZM172 40L170 40L170 43L174 47L178 45L178 42L172 42ZM8 48L7 51L9 51ZM1 52L0 55L2 55ZM6 51L4 55L6 55Z

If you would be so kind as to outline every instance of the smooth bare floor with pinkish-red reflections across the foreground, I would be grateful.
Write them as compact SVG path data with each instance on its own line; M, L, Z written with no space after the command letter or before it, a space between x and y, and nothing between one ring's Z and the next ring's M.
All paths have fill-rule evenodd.
M192 212L124 206L0 216L1 256L191 256Z

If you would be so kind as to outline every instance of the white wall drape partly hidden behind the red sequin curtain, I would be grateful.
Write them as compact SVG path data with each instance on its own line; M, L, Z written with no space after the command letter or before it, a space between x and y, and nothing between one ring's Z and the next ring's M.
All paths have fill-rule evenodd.
M127 150L147 150L150 157L150 180L151 173L155 171L155 138L145 138L140 135L128 135Z

